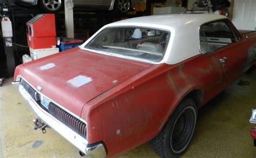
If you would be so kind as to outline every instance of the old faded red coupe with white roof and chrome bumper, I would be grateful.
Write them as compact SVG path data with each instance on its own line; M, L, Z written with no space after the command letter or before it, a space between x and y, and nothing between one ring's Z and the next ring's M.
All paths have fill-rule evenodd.
M256 32L220 15L159 15L104 26L78 48L19 65L17 87L37 115L89 157L151 140L181 155L198 108L256 64Z

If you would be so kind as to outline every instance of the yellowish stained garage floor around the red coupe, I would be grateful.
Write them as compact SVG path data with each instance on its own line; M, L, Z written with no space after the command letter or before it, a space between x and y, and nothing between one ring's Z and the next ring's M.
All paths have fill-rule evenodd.
M248 122L256 108L256 71L199 110L190 147L182 157L256 157ZM35 115L11 79L0 87L0 157L79 157L78 150L51 129L32 130ZM2 143L2 144L1 144ZM147 142L118 157L158 157Z

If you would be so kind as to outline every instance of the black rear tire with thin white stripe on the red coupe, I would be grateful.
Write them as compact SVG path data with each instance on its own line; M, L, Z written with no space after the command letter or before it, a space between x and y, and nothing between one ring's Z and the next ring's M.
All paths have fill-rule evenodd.
M165 127L151 140L151 146L161 157L178 157L187 149L197 122L197 106L185 98L171 114Z

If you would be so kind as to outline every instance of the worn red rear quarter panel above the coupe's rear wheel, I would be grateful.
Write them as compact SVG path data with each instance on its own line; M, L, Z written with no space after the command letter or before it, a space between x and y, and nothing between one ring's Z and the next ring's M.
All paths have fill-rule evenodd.
M214 76L222 73L218 59L199 55L177 65L152 65L90 101L90 105L99 105L108 155L120 154L156 136L191 91L202 92L203 105L219 92L216 85L221 80Z

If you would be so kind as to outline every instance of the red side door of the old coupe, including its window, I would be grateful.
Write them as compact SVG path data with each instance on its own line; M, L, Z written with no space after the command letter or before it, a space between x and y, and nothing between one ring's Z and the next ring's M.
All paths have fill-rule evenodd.
M223 67L223 90L243 73L248 44L227 19L204 24L201 29L207 40L207 48L214 52Z

